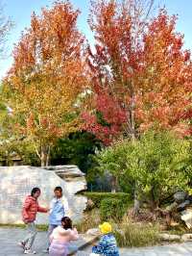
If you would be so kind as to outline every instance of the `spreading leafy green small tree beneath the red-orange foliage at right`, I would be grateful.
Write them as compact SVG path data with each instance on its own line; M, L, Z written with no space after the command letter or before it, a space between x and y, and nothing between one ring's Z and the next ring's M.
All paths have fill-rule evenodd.
M189 190L190 142L169 132L148 132L139 141L118 141L98 155L103 170L126 192L138 192L154 210L178 189ZM137 188L134 187L137 184Z

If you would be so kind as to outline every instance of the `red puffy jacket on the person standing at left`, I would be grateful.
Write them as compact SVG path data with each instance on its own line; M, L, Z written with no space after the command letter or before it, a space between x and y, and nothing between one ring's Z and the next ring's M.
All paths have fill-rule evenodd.
M22 218L24 222L33 222L36 220L36 213L47 213L47 209L40 207L35 197L28 195L25 199L22 209Z

